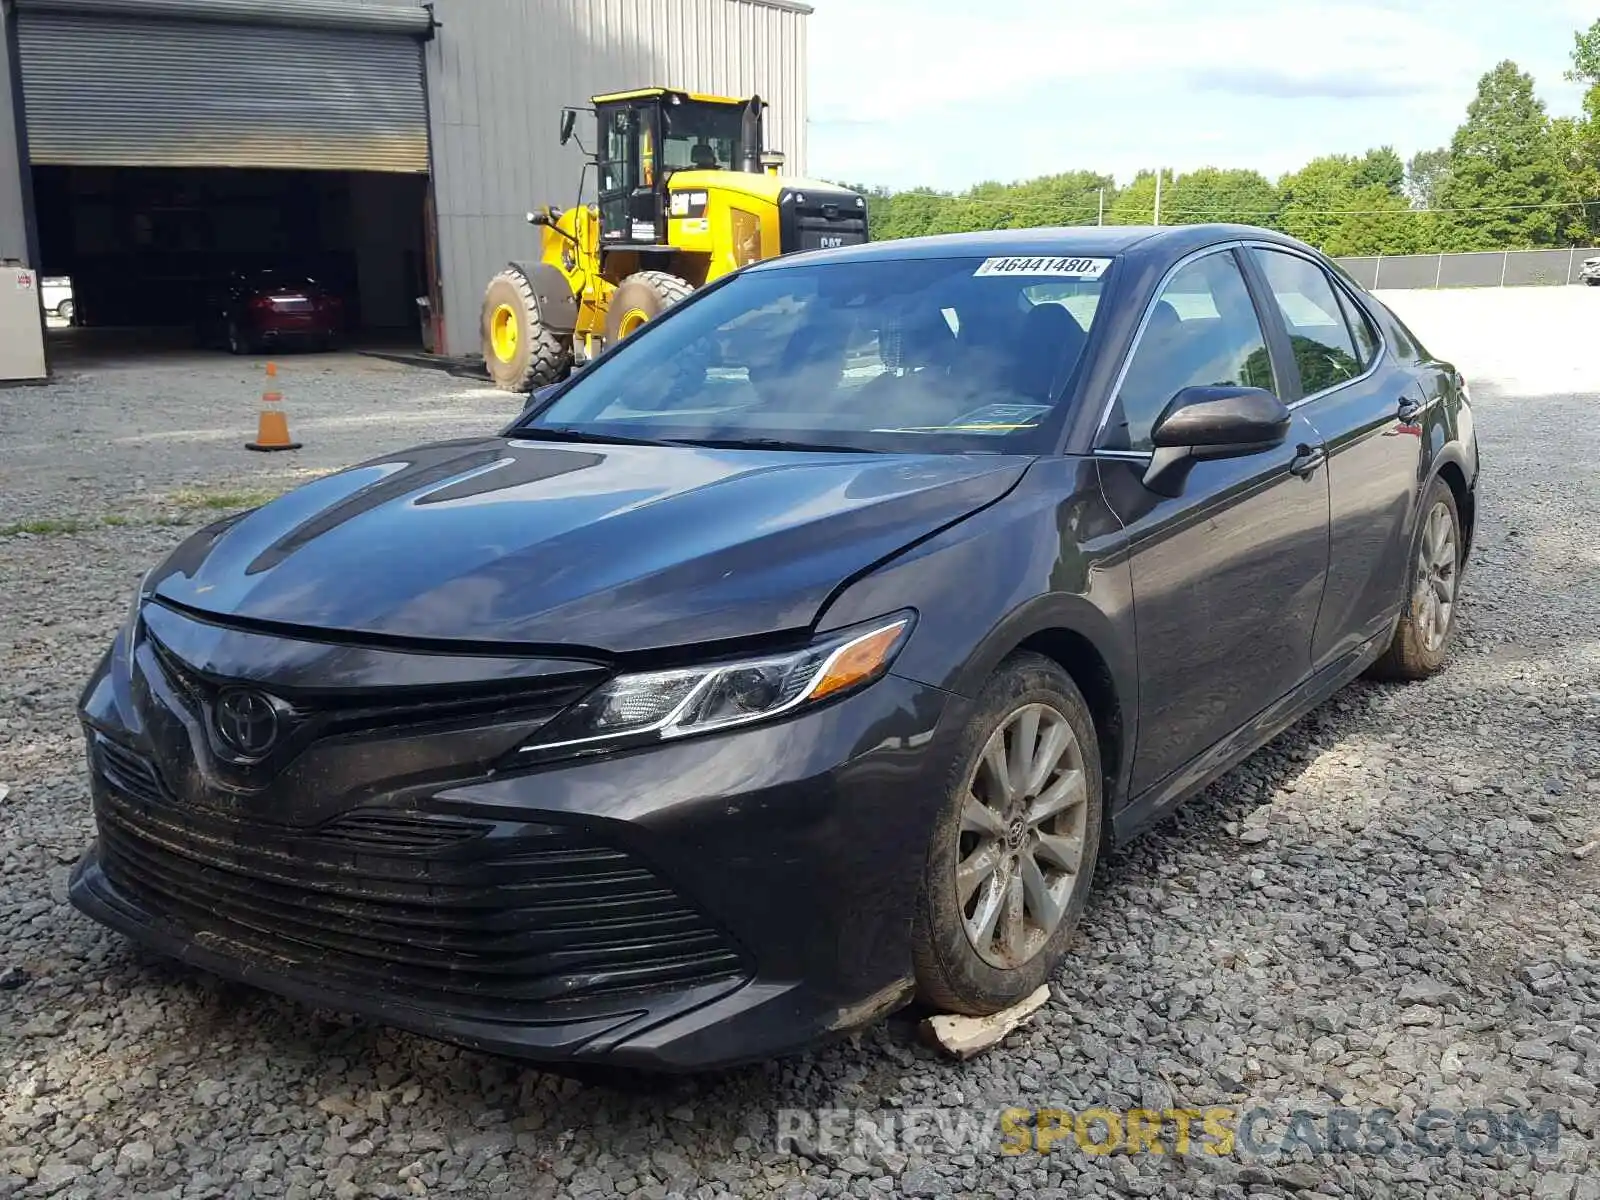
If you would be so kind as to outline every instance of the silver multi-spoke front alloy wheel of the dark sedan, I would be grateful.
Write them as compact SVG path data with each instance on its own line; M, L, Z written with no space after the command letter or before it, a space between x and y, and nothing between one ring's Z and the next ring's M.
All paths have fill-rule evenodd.
M1029 704L984 744L962 802L955 894L992 966L1029 962L1061 926L1083 866L1083 747L1066 715Z

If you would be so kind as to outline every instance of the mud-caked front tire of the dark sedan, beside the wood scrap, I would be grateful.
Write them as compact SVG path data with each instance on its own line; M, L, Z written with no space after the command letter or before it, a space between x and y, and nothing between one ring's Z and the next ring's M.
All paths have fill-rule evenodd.
M1034 789L1035 802L1061 790L1066 803L1053 816L1032 824L1021 806L1014 819L1002 819L984 800L1000 800L995 774L986 765L986 747L998 739L1002 762L1008 762L1016 739L1026 738L1029 714L1037 722L1035 750L1056 731L1070 734L1058 766ZM1069 776L1075 773L1077 782ZM976 806L976 808L974 808ZM973 814L987 810L982 821ZM928 845L926 866L912 928L912 955L917 970L917 997L941 1013L987 1016L1024 1000L1050 979L1066 957L1072 933L1083 915L1094 880L1101 845L1102 779L1094 718L1082 693L1059 666L1040 654L1018 653L1000 664L974 704L971 722L962 733L946 779L944 810ZM1077 842L1077 869L1062 872L1038 834L1051 834L1062 846ZM1016 851L1026 848L1019 856ZM958 866L979 854L1002 859L1000 869L978 874L974 890L963 901ZM1070 858L1070 851L1067 858ZM1021 858L1019 867L1005 864ZM1038 872L1030 883L1027 864ZM1034 896L1054 906L1053 928L1035 920ZM1002 910L990 933L968 933L970 920L992 909L995 896L1024 896L1022 920ZM1022 938L1006 947L1006 930ZM979 949L984 946L986 949Z

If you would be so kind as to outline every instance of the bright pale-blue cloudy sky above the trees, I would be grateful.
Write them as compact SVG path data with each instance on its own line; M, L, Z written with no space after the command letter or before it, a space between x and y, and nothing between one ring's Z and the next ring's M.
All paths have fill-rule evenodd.
M962 189L1450 142L1504 58L1552 115L1600 0L810 0L806 174Z

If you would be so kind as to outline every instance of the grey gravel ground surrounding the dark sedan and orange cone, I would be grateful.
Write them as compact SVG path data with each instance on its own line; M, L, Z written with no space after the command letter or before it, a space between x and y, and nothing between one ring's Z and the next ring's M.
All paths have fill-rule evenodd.
M806 1058L622 1088L208 979L64 901L90 838L72 704L136 574L240 494L493 429L506 398L387 363L291 360L282 387L307 448L258 458L238 443L259 371L226 358L0 394L0 1197L1595 1200L1600 853L1574 850L1600 837L1600 368L1578 336L1597 301L1397 299L1424 339L1461 347L1482 424L1478 554L1450 667L1349 688L1106 862L1032 1024L968 1064L893 1019ZM1094 1155L1070 1139L1008 1157L994 1138L808 1138L779 1154L773 1138L781 1109L1219 1104L1274 1114L1261 1136L1331 1106L1400 1123L1427 1107L1560 1117L1536 1152L1488 1154L1450 1136L1275 1157Z

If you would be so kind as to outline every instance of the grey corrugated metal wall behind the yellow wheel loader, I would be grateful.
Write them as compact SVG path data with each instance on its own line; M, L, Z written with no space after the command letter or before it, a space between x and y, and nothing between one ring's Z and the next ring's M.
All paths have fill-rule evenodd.
M563 104L656 85L758 93L771 104L770 147L787 155L786 173L803 173L806 11L758 0L437 0L427 82L442 349L477 350L483 285L538 245L526 211L578 198L582 155L555 139ZM592 147L592 118L578 128Z

